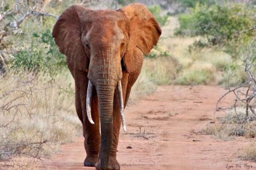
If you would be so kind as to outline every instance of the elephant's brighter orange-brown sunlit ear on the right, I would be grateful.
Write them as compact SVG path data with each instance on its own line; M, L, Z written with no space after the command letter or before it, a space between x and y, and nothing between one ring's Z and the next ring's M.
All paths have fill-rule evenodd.
M136 69L137 47L148 55L157 44L162 30L153 14L142 4L127 5L119 11L123 12L129 20L129 42L124 56L124 66L131 73Z

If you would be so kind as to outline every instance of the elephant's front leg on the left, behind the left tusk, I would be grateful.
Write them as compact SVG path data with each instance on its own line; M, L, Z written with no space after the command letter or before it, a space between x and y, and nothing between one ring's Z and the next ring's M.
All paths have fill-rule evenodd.
M76 112L83 125L84 148L86 151L86 158L84 166L93 166L99 159L100 147L100 123L98 111L98 98L95 93L92 97L92 118L95 124L91 124L86 116L86 95L87 95L87 75L82 73L75 74L76 83Z

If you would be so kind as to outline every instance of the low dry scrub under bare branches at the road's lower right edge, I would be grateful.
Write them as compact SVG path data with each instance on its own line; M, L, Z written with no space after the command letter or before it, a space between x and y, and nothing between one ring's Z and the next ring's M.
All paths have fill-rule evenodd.
M244 106L239 106L236 109L229 108L225 111L224 116L217 117L218 122L207 124L206 128L199 133L213 135L214 138L224 141L239 140L238 137L253 139L249 146L238 152L238 157L255 161L256 116L252 112L246 116L245 110Z

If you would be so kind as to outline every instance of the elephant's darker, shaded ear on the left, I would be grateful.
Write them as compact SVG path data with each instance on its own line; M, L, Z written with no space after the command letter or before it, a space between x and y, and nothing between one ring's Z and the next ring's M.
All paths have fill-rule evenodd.
M91 11L82 5L70 6L60 15L53 27L52 36L60 52L66 55L72 74L76 69L86 71L89 66L89 58L86 57L81 41L81 18Z

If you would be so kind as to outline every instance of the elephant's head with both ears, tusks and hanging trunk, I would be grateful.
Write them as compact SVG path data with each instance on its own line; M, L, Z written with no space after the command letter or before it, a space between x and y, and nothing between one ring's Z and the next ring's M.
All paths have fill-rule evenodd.
M95 87L101 122L101 166L108 164L112 141L113 100L119 89L123 115L122 72L132 74L137 63L137 49L148 55L156 45L161 28L154 16L141 4L130 4L117 11L92 11L81 5L69 7L55 23L52 36L62 54L67 56L71 74L87 74L87 116L91 123L90 98ZM122 117L123 128L125 122ZM104 169L104 168L102 168Z

